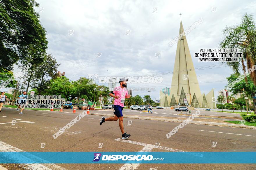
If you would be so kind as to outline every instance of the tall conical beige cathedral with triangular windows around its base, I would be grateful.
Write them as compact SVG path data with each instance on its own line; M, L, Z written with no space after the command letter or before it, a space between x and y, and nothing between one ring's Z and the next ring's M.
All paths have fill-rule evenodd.
M183 32L184 28L182 21L180 21L179 35ZM182 36L177 42L170 96L168 94L163 94L163 92L160 91L160 106L171 107L180 105L215 108L215 103L212 102L213 97L213 90L207 95L204 93L201 94L193 61L189 52L189 45L186 36Z

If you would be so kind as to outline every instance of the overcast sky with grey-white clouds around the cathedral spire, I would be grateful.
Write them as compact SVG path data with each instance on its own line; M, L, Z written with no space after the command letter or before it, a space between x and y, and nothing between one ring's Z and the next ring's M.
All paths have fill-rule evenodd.
M171 86L177 44L171 47L168 43L179 33L180 12L184 29L203 18L186 38L201 91L206 94L212 88L217 89L216 94L223 89L232 70L219 63L199 63L194 53L200 48L218 47L222 30L240 23L246 12L256 16L253 1L37 2L41 8L35 10L47 30L47 52L61 63L58 70L67 78L158 74L163 77L160 84L128 84L155 87L150 93L133 92L133 96L150 94L153 99L159 99L161 88ZM69 35L70 30L74 30L73 35ZM131 30L130 35L126 30ZM98 52L100 57L96 57ZM155 53L160 56L155 58Z

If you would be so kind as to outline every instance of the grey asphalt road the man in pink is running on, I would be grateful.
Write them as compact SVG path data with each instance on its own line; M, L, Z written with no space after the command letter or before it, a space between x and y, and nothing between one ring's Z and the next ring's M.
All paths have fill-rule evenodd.
M125 110L124 114L131 114L129 111ZM143 146L137 145L138 142L152 145L160 143L162 147L182 151L256 151L255 129L188 124L179 129L174 136L167 139L166 134L179 123L125 118L125 132L131 134L127 141L135 142L123 142L116 140L121 138L118 121L106 122L99 126L101 116L97 115L86 115L62 135L54 139L52 135L78 115L66 112L70 112L70 110L64 109L63 112L24 110L24 114L21 115L15 109L2 108L2 113L0 113L0 144L2 144L0 145L0 151L1 149L3 150L3 145L16 151L17 149L22 149L23 151L79 152L141 151ZM81 112L81 110L78 110L78 112ZM113 110L101 112L113 114ZM153 112L156 113L157 111L153 109ZM164 113L163 110L158 112L157 116L160 113ZM134 114L141 113L134 112ZM163 114L162 116L176 115ZM11 125L12 120L17 120L15 125ZM132 123L127 126L130 120L132 120ZM212 142L217 142L217 145L212 147ZM45 148L40 148L41 143L45 143ZM99 143L104 144L102 148L98 148ZM163 150L154 148L152 151ZM45 166L51 169L125 169L129 167L124 164L45 164ZM136 166L137 169L256 168L255 164L139 164ZM129 168L132 169L132 167Z

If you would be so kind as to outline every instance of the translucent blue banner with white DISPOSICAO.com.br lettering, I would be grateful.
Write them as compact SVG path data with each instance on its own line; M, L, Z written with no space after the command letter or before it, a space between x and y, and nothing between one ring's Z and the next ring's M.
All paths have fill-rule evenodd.
M255 164L256 152L0 152L0 163Z

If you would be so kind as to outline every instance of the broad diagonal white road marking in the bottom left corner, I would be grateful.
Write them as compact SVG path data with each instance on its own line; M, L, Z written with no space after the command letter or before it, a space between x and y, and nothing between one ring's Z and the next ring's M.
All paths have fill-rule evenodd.
M25 151L0 141L0 152L25 152ZM38 157L36 157L32 154L31 154L31 158L36 158L35 160L38 160ZM34 161L31 160L31 162L34 162ZM56 164L44 164L44 165L42 165L42 164L19 164L19 165L24 166L26 169L29 169L29 170L37 170L37 169L40 169L40 170L51 170L51 169L65 170L65 168L60 167Z

